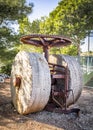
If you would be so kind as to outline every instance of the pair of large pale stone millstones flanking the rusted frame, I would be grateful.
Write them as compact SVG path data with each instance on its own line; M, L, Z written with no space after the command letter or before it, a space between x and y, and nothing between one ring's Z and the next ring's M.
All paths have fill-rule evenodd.
M60 61L61 60L61 61ZM70 56L50 55L49 62L68 64L69 88L73 89L75 101L82 90L81 71L78 62ZM20 86L15 85L16 78L20 77ZM29 114L44 109L51 93L51 74L48 63L42 54L19 52L12 65L11 96L12 101L20 114ZM67 105L73 104L72 94L69 94Z

